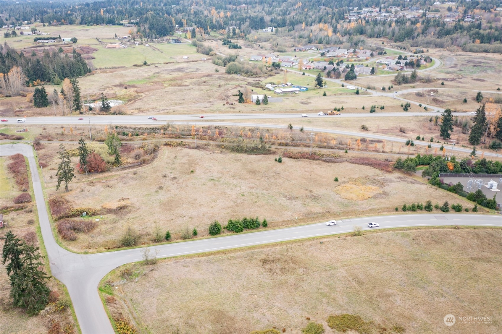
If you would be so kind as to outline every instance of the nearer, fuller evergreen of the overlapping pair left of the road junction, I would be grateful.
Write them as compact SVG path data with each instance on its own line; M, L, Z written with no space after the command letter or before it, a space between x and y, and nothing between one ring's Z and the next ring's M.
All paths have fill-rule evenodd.
M20 248L23 265L10 276L10 295L14 299L14 305L26 308L28 314L35 314L49 302L51 290L46 285L49 276L39 269L44 264L38 247L23 243Z

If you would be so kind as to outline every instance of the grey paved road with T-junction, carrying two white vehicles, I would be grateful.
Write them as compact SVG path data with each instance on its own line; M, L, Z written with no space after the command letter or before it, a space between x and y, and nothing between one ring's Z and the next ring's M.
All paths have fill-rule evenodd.
M0 146L0 155L21 153L28 158L32 171L33 190L39 214L42 237L47 249L52 275L63 282L75 308L78 322L84 334L113 334L113 328L104 311L97 292L99 281L110 270L130 262L142 259L141 248L107 253L75 254L61 248L54 240L45 206L44 194L32 146L27 144L5 144ZM346 233L355 225L369 230L367 223L377 222L380 228L470 225L502 227L500 216L473 214L413 214L381 217L345 219L335 226L324 223L290 227L277 230L236 234L219 238L171 243L151 247L158 250L158 257L172 257L185 254L210 252L252 245L261 245L286 240L296 240L316 236L328 236Z

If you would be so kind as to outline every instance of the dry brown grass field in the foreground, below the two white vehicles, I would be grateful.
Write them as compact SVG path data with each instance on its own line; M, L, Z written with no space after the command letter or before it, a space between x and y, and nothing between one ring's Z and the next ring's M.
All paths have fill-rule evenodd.
M489 229L324 237L130 264L105 280L146 272L118 291L154 333L248 334L273 326L300 333L307 317L338 333L326 319L349 313L389 333L401 325L410 334L495 334L502 331L500 240L502 231ZM450 313L493 316L493 323L447 327Z

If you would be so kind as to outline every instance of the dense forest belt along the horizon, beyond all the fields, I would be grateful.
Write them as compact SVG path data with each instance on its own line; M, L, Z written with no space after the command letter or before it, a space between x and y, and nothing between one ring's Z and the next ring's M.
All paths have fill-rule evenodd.
M395 42L407 42L411 46L466 47L472 44L499 44L502 39L500 7L498 1L457 1L451 10L461 15L474 14L481 21L447 23L442 18L427 18L433 10L434 0L105 0L85 2L20 1L3 2L4 23L39 21L44 24L112 24L134 20L137 33L146 38L171 35L175 26L197 27L206 33L238 28L241 36L266 27L279 28L276 34L291 36L301 43L336 44L347 38L388 37ZM405 10L411 6L424 9L420 18L396 20L348 21L347 13L354 7L378 8L388 12L395 6ZM3 21L3 22L2 22ZM193 37L193 36L192 36ZM472 47L472 46L471 46ZM467 47L466 47L467 48ZM496 49L496 48L495 48Z

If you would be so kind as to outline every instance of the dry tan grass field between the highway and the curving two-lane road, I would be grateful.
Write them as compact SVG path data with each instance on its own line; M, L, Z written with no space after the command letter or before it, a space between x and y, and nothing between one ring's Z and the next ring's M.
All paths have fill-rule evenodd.
M226 150L161 146L150 164L123 171L77 175L70 192L55 191L57 148L39 154L52 162L44 168L49 197L63 196L72 207L103 209L92 233L65 241L71 249L102 251L119 246L128 227L151 243L154 229L174 239L195 227L208 235L213 220L225 224L241 217L266 218L270 227L291 226L341 217L394 212L406 202L471 204L451 193L403 176L347 162L328 163L274 155L246 155ZM200 146L199 146L200 147ZM72 148L68 145L67 148ZM52 152L52 153L51 153ZM73 158L77 162L77 158ZM338 177L340 182L334 182ZM350 195L357 188L360 196Z

